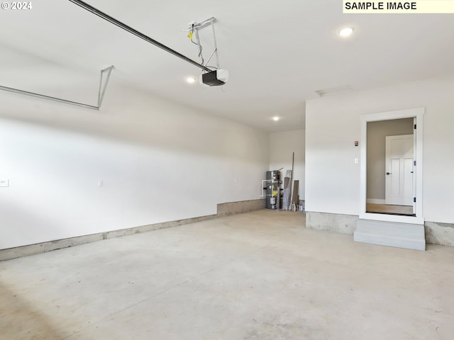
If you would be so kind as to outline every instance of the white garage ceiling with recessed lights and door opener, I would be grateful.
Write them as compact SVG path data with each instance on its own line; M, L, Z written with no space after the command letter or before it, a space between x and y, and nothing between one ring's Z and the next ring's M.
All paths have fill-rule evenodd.
M187 76L200 74L194 65L70 1L41 0L30 10L0 10L0 85L94 104L99 70L113 64L111 82L282 131L304 128L304 103L319 89L358 91L454 74L450 14L343 14L341 0L87 3L197 62L198 49L182 30L214 16L230 80L222 89L189 85ZM340 38L338 29L349 25L353 36ZM201 34L207 59L212 33ZM75 91L81 89L88 98ZM274 122L274 115L282 119Z

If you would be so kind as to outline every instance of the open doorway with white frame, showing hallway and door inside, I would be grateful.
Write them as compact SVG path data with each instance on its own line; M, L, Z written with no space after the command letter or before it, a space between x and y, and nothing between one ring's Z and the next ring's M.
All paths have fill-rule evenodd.
M423 113L414 108L361 116L360 218L423 223Z

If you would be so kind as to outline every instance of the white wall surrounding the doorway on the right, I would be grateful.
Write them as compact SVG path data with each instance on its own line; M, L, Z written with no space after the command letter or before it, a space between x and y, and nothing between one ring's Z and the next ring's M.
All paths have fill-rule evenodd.
M453 223L453 94L446 77L306 101L306 210L359 215L360 115L425 107L423 217Z

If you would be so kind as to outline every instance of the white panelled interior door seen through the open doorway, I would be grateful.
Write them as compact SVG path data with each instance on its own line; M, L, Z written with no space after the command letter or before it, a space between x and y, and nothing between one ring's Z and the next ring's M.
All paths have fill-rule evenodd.
M413 135L386 137L386 204L413 205L413 145Z

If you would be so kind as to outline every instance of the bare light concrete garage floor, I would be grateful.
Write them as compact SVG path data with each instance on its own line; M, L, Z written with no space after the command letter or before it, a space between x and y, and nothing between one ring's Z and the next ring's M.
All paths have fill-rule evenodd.
M0 339L441 339L454 248L257 210L0 263Z

